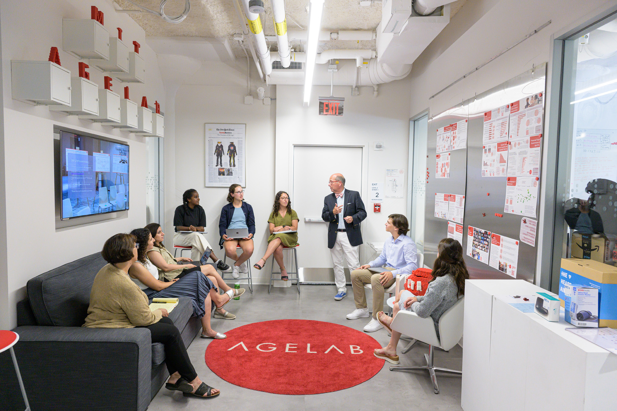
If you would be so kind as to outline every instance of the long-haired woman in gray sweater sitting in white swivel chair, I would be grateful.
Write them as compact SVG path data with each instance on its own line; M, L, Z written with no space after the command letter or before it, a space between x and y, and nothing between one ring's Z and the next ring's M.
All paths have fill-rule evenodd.
M439 318L465 294L465 280L469 278L467 266L463 260L463 247L457 240L444 238L439 242L432 274L433 280L429 282L424 296L416 297L411 291L404 289L399 292L394 301L392 317L385 315L383 311L377 314L381 325L386 327L392 336L386 347L375 350L375 357L393 364L399 363L396 346L399 344L401 334L391 330L390 325L400 310L413 311L421 318L429 316L433 318L437 338L439 338Z

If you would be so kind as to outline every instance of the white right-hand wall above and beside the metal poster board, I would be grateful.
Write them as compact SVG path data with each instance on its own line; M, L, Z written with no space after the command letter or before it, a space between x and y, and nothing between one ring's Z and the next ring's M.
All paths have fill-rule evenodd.
M452 18L450 24L429 45L413 64L409 75L412 96L409 114L415 116L429 108L430 115L449 109L475 93L480 94L503 81L530 70L534 65L548 62L547 105L545 106L544 135L549 135L550 87L553 39L587 20L602 14L614 1L604 0L476 0L468 1ZM492 60L477 72L433 99L429 98L453 81L471 72L506 48L524 38L528 33L551 21L536 35L518 44ZM555 62L560 64L560 62ZM557 109L557 107L555 107ZM548 139L544 139L542 167L546 168L549 156ZM553 176L551 176L552 178ZM540 187L546 187L547 174L542 173ZM540 197L539 210L552 207ZM542 255L542 230L545 222L540 211L536 283L539 283Z

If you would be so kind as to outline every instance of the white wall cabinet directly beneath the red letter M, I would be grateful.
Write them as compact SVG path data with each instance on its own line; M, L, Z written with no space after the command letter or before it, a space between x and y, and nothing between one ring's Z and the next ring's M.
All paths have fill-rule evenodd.
M78 59L109 59L109 32L96 20L62 19L62 49Z

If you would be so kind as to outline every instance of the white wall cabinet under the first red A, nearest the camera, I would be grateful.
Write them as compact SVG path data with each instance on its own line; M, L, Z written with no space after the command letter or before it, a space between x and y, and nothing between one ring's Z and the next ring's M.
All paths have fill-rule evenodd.
M12 60L12 97L35 104L71 105L71 72L51 61Z

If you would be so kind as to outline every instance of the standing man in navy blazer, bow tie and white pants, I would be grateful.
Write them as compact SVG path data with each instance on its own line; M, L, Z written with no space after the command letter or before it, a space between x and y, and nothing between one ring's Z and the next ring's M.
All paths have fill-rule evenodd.
M343 259L347 260L349 270L360 267L360 222L366 218L364 203L357 191L345 188L345 177L336 173L330 176L328 186L332 194L323 199L321 218L328 226L328 248L334 264L334 283L337 293L335 300L347 295Z

